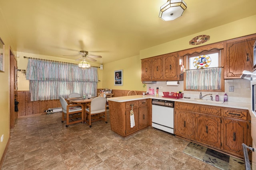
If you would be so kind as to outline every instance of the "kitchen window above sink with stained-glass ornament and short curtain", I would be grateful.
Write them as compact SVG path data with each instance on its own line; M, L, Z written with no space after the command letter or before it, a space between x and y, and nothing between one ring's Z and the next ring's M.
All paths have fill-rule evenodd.
M213 49L186 56L188 70L185 74L185 90L223 91L224 78L221 68L223 50Z

